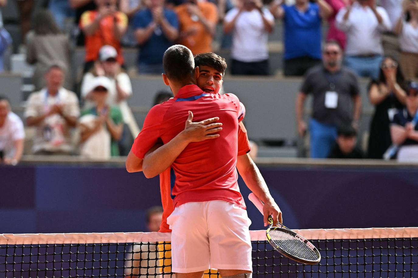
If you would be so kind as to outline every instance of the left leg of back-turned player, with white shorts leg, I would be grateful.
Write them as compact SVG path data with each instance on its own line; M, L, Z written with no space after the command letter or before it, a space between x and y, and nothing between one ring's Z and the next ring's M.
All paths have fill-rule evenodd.
M206 203L185 203L167 218L172 230L171 264L176 278L201 278L204 270L209 269Z

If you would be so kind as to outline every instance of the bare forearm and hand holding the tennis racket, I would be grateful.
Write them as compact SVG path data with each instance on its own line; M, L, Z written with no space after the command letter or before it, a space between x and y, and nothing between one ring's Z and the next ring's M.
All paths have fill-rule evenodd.
M260 170L248 153L238 156L237 169L247 187L264 203L264 226L268 225L268 215L272 215L274 226L277 225L277 221L283 223L282 212L271 196Z

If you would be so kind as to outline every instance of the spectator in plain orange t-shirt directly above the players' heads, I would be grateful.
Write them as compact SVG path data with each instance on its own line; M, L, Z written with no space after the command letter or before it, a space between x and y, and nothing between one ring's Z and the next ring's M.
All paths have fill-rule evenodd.
M212 52L212 41L218 23L216 5L210 2L188 0L175 8L180 24L180 44L193 55Z

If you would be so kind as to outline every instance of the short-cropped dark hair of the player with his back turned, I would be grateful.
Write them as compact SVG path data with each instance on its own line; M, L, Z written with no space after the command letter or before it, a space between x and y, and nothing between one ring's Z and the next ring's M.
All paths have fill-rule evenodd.
M195 68L193 54L184 45L173 45L164 52L163 68L168 79L178 82L189 80Z

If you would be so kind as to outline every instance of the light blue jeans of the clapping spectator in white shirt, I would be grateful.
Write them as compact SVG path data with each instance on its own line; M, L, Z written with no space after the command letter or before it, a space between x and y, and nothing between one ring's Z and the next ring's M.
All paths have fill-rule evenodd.
M360 77L369 77L377 80L382 60L382 55L372 57L346 56L344 63Z

